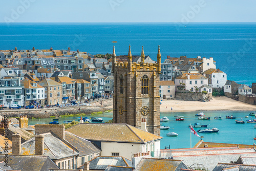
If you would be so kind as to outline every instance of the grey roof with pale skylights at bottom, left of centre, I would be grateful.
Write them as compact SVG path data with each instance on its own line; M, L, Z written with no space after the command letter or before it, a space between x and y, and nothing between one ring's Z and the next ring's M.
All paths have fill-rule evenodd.
M98 162L103 162L101 165L98 165ZM128 160L124 157L117 157L117 156L98 156L90 161L90 170L97 169L97 170L104 170L108 165L115 165L115 166L122 166L122 167L129 167L132 166L132 161ZM83 166L82 166L83 167Z

